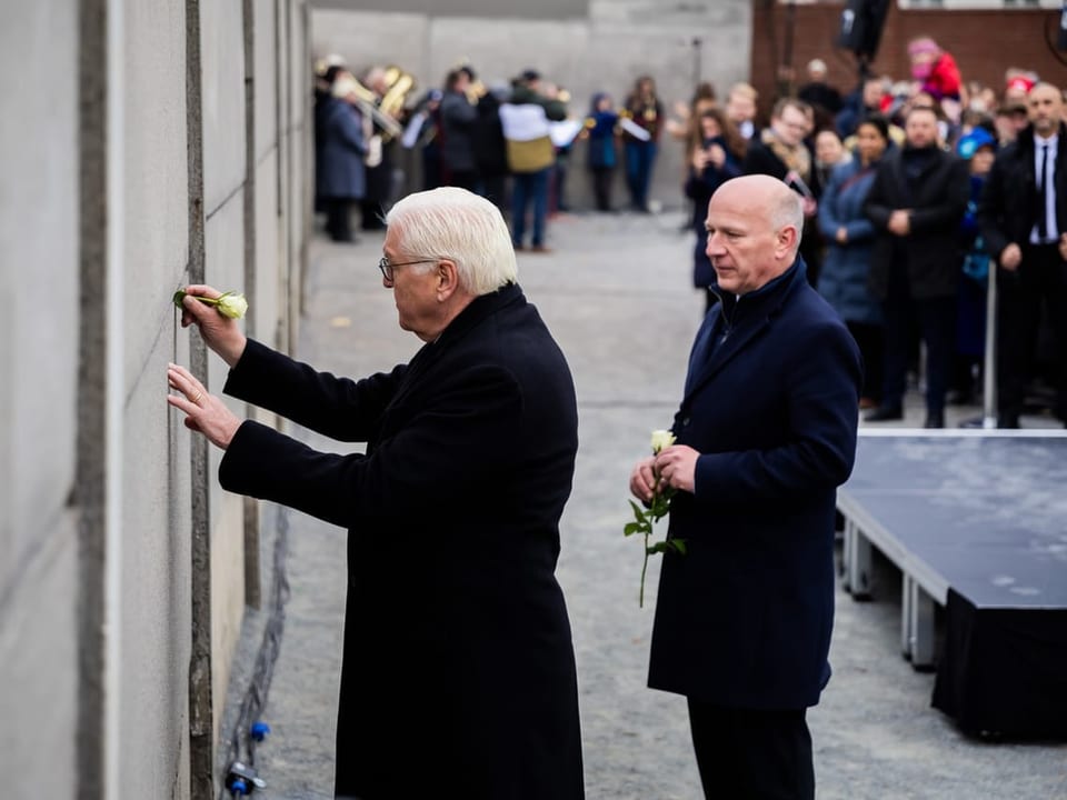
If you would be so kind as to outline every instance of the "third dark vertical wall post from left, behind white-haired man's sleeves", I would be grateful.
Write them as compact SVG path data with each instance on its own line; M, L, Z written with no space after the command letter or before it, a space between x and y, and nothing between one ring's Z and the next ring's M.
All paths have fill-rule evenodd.
M245 24L245 293L251 300L246 330L256 332L259 318L256 291L256 18L252 0L241 7ZM247 407L248 416L253 411ZM245 603L262 603L259 566L259 501L245 498Z

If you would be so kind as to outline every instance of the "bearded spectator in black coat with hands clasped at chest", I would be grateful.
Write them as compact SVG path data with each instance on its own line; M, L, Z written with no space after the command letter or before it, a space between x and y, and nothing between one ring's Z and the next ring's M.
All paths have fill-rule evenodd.
M886 321L881 404L865 418L872 422L904 418L917 320L926 342L925 426L945 427L963 268L960 222L970 200L970 177L967 162L943 150L937 136L933 108L908 111L905 146L878 164L864 203L875 226L868 283Z

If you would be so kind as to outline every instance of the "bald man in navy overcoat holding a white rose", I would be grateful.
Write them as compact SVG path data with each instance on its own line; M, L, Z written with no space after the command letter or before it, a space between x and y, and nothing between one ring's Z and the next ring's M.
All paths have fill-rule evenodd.
M712 307L689 357L677 443L630 490L667 487L648 683L685 694L707 797L812 798L806 709L829 680L836 488L852 468L860 363L797 256L800 199L768 176L708 207Z

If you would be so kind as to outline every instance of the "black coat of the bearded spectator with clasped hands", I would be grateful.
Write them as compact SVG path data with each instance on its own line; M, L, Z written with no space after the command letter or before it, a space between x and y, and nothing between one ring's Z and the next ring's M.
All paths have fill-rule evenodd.
M907 262L911 297L929 300L955 297L964 262L960 223L970 201L967 162L934 150L913 184L905 176L907 151L894 148L878 164L864 213L875 226L868 286L879 300L889 294L889 271L897 259ZM889 232L895 209L911 209L910 232Z

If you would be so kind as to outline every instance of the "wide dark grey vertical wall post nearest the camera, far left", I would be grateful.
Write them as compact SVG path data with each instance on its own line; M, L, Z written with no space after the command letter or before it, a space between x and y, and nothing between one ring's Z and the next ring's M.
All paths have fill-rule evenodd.
M79 800L106 797L107 0L78 3L78 730ZM112 387L121 391L121 387ZM110 476L114 480L114 476ZM113 789L113 788L112 788Z

